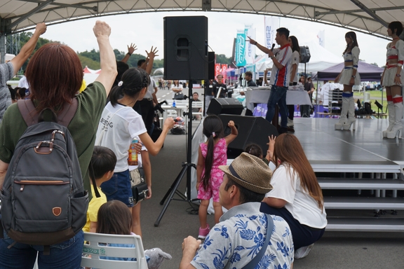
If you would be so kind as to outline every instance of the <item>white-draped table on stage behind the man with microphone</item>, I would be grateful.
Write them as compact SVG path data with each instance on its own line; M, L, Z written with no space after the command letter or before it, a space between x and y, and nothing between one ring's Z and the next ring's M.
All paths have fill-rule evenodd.
M261 90L262 89L262 90ZM267 104L271 90L269 87L260 87L260 90L245 91L245 106L254 111L255 104ZM286 104L311 104L309 95L304 90L288 90L286 92Z

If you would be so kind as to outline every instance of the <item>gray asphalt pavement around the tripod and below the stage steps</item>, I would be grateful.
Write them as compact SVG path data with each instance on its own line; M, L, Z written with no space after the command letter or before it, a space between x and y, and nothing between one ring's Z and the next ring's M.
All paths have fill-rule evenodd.
M196 90L198 91L198 90ZM158 97L169 90L159 90ZM199 89L201 92L201 89ZM169 95L171 96L172 93ZM325 119L326 120L326 119ZM199 122L194 122L194 128ZM182 169L186 160L186 135L168 135L163 149L152 160L152 199L142 202L141 223L144 249L160 247L173 256L161 268L178 268L184 237L198 235L199 221L188 202L173 200L159 227L154 223L163 205L159 202ZM186 176L178 188L186 191ZM174 198L179 198L175 195ZM400 212L401 213L401 212ZM214 225L213 215L208 223ZM307 258L296 260L294 268L404 268L404 233L327 232L316 242Z

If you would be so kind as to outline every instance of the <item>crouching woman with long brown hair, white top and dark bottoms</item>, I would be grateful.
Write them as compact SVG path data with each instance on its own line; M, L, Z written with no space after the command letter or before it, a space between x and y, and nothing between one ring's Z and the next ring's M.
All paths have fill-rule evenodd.
M295 258L304 258L327 226L323 193L316 174L294 135L269 137L267 158L276 164L271 178L274 188L265 195L260 210L288 222Z

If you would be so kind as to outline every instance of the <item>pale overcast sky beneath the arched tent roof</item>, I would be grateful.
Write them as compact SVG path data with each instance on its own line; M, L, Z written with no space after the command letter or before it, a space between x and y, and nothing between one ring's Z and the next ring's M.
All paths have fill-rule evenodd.
M72 47L75 51L98 50L93 34L93 25L96 20L105 20L112 27L112 48L127 51L131 42L137 45L135 53L145 55L144 50L151 46L159 49L159 57L163 58L163 18L166 16L204 15L208 17L208 43L216 54L231 56L233 40L237 29L244 29L244 25L253 25L256 29L257 41L264 42L264 16L242 13L216 13L216 12L157 12L137 13L130 15L113 15L101 18L65 22L60 25L50 25L43 38L61 41ZM346 46L344 34L349 29L323 25L318 22L307 22L288 18L280 19L281 27L287 27L290 34L297 37L299 43L311 40L317 41L319 31L325 30L325 48L331 53L341 57ZM376 62L379 67L386 62L386 45L389 41L368 34L357 33L358 44L361 49L361 60ZM257 50L260 55L260 50Z

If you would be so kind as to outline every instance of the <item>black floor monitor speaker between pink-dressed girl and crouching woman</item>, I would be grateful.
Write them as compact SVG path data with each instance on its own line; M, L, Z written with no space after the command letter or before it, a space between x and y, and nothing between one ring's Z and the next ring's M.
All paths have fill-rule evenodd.
M229 120L234 121L234 125L238 130L236 139L227 146L227 158L236 158L248 144L260 145L265 157L268 150L268 137L271 135L278 136L276 127L262 117L221 114L219 118L224 126L224 135L229 135L231 132L231 129L227 126Z

